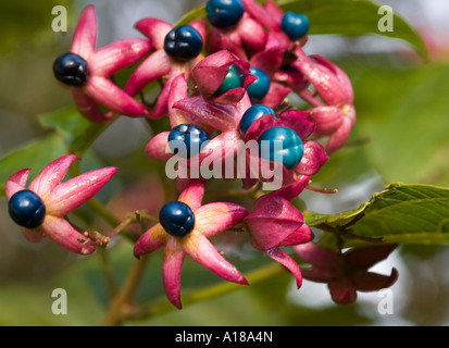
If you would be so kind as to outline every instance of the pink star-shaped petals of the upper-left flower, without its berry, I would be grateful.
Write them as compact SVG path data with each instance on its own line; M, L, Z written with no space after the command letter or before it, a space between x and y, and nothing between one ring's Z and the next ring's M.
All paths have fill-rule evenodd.
M148 40L121 39L96 50L97 15L93 5L87 7L78 21L71 52L87 62L88 76L80 87L70 87L79 112L92 122L107 122L115 114L130 117L146 116L149 110L126 94L109 77L150 51ZM110 112L103 112L103 107Z

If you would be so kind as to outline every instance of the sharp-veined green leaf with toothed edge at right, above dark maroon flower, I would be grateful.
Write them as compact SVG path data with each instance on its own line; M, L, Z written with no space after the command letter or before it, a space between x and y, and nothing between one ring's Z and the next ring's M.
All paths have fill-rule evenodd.
M360 208L335 215L304 212L310 226L349 228L385 243L449 243L449 189L432 185L391 184ZM349 240L351 244L354 240Z

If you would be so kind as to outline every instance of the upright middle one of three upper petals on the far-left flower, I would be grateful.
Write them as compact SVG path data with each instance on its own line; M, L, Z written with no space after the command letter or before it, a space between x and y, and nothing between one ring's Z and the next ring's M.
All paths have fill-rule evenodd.
M29 189L35 191L45 202L50 198L51 190L61 184L68 167L73 162L79 160L74 154L66 154L48 164L29 184ZM47 208L48 209L48 208Z

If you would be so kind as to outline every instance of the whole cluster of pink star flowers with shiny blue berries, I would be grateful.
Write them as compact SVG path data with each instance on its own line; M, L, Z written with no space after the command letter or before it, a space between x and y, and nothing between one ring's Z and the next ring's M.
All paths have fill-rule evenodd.
M169 117L170 128L154 134L145 151L152 160L166 161L166 176L176 181L180 194L163 204L159 223L139 236L134 254L140 258L164 248L163 284L177 308L186 254L226 281L248 284L209 240L233 226L248 233L250 244L285 266L301 286L295 257L305 254L302 246L313 245L314 236L292 200L309 187L328 156L345 145L356 122L348 76L325 58L303 50L307 15L284 13L270 0L264 5L254 0L209 0L204 9L202 18L175 27L142 18L135 27L145 38L97 49L96 10L89 5L80 15L71 51L53 64L57 79L91 122L123 115L153 124ZM132 65L137 67L119 86L113 74ZM154 86L161 88L150 103L147 95L154 95ZM312 108L289 105L289 94ZM90 253L98 241L76 231L66 214L92 197L115 169L61 184L74 160L66 156L52 162L29 189L29 170L17 172L8 182L7 196L11 216L27 239L38 241L46 235L71 251ZM252 204L202 204L211 177L237 182L248 197L255 197ZM298 254L282 249L287 247ZM309 248L304 260L321 268L337 258L321 260L321 252L313 256ZM367 288L336 283L341 272L329 278L338 284L336 301L350 301L354 288ZM361 283L365 278L357 277ZM384 283L394 281L391 275ZM346 285L350 293L345 293Z

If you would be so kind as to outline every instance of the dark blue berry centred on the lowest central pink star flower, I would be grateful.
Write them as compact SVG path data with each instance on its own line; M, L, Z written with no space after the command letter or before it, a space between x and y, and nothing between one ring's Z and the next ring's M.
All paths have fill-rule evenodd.
M195 227L195 214L186 203L173 201L162 207L159 222L167 234L184 237Z

